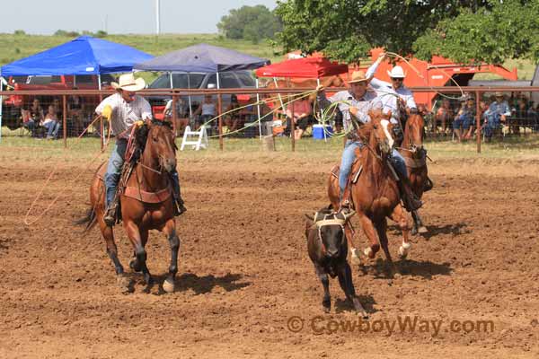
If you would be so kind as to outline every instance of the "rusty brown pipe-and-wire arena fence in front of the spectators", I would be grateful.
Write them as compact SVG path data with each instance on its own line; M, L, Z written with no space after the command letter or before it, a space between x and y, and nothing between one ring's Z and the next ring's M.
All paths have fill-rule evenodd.
M346 88L329 88L338 92ZM429 136L456 139L474 137L477 152L481 153L484 140L503 140L508 136L528 136L539 132L539 104L530 101L532 92L539 87L413 87L411 92L437 92L432 109L418 103L426 118ZM224 149L224 136L285 136L290 135L292 150L296 147L295 106L286 115L287 104L298 98L314 98L314 88L240 88L240 89L152 89L137 92L152 105L155 118L163 118L167 101L172 100L170 117L181 136L186 126L206 125L210 136L219 138ZM503 92L510 114L495 118L487 111L496 101L494 94ZM63 139L73 136L95 136L102 139L107 130L103 120L94 121L94 109L113 90L49 90L0 91L0 140L2 136L31 136L35 138ZM231 96L239 100L239 109L230 108ZM214 117L200 116L199 105L205 96L215 103ZM215 99L216 97L216 99ZM188 101L189 98L189 101ZM455 120L467 98L473 99L473 120ZM441 108L441 109L440 109ZM314 106L316 109L316 106ZM325 118L335 128L335 118ZM92 124L92 125L91 125ZM311 118L310 125L316 124ZM90 126L91 125L91 126ZM324 122L325 125L325 122ZM463 127L461 127L463 126ZM478 130L479 129L479 130ZM458 131L455 131L458 130Z

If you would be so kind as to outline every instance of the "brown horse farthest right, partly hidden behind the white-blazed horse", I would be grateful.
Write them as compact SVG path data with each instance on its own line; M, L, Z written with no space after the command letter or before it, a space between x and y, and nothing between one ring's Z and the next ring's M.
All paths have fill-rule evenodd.
M429 171L427 170L427 153L423 148L423 138L425 136L424 127L425 121L420 114L410 114L406 121L406 125L404 125L402 147L399 149L399 152L406 162L411 190L418 198L423 196L423 191L429 175ZM412 211L411 216L413 218L413 228L411 233L427 232L427 228L423 225L418 211Z

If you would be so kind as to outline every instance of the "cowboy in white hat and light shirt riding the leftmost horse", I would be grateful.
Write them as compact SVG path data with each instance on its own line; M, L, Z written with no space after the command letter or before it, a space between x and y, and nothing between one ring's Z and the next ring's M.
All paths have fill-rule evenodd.
M144 79L135 79L133 74L122 74L119 76L118 83L110 84L116 89L116 93L104 99L95 109L95 113L109 120L112 134L116 135L116 144L114 144L110 154L104 179L107 210L103 216L103 221L112 227L115 223L118 206L116 190L128 147L129 129L133 126L142 125L143 121L151 121L152 108L145 98L136 94L137 91L146 87ZM181 215L186 209L181 199L180 180L176 169L171 173L171 180L175 203L175 206L173 206L174 215Z

